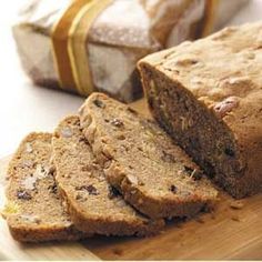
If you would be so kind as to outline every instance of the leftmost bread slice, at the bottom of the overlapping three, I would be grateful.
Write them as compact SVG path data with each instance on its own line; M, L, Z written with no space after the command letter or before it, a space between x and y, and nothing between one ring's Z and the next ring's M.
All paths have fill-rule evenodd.
M12 236L22 242L78 240L53 179L50 133L30 133L9 169L8 203L3 211Z

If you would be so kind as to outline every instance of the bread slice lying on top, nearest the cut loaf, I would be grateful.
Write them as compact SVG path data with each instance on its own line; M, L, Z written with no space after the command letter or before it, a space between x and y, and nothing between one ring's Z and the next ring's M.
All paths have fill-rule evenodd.
M108 181L150 218L191 216L216 190L152 121L102 93L80 110L81 127Z

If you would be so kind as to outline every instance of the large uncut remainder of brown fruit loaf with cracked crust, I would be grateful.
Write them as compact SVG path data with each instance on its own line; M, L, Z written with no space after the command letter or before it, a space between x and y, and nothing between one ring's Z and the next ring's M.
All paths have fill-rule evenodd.
M235 198L262 189L262 23L225 28L140 63L159 123Z

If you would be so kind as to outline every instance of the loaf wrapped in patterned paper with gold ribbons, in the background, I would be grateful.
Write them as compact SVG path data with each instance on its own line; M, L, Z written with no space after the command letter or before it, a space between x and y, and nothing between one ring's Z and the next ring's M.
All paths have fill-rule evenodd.
M99 90L129 102L141 93L139 59L201 37L243 2L30 0L13 36L34 83L82 95ZM226 17L214 18L224 3L230 6Z

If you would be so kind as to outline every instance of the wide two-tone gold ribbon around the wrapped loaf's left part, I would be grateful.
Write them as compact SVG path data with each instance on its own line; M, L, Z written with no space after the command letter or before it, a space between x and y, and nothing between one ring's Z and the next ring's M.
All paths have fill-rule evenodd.
M88 36L95 18L113 0L74 0L52 30L52 51L62 89L90 94Z

